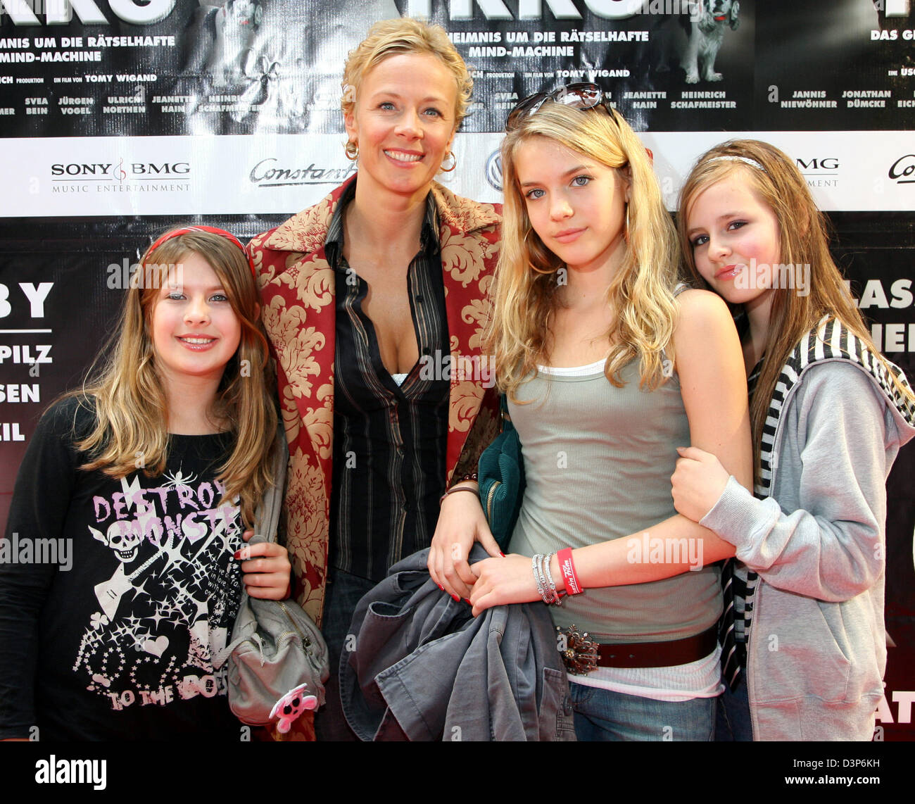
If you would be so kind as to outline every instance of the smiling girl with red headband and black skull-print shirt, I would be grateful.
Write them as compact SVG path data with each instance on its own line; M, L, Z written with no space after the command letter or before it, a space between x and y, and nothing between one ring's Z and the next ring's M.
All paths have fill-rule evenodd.
M0 739L238 739L212 662L242 582L283 599L291 570L242 550L276 432L259 315L235 237L171 230L101 368L41 418L5 533L30 560L0 562Z

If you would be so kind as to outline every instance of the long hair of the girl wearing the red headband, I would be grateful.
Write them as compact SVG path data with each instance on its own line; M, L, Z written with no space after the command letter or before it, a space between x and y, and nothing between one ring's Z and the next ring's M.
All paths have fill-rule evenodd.
M222 374L211 414L232 436L220 467L223 500L241 498L242 519L253 523L254 506L272 478L269 455L276 432L274 387L268 347L259 319L257 288L242 249L219 234L192 231L147 251L132 276L117 330L77 397L92 410L95 426L76 446L88 453L82 469L120 479L137 469L147 477L165 472L168 455L167 397L156 370L150 326L169 270L189 254L203 257L219 277L242 339ZM102 358L102 354L107 357Z

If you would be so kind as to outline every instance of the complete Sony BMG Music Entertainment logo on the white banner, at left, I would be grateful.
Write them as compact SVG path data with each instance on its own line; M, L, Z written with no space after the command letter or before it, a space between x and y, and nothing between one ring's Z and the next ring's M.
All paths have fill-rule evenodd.
M51 165L52 193L188 192L189 162L56 162Z

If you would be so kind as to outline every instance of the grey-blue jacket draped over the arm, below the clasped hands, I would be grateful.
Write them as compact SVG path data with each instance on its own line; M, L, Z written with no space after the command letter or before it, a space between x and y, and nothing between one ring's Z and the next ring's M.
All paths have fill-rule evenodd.
M565 668L543 603L479 617L438 589L428 550L362 598L340 657L343 712L362 740L575 740ZM488 558L474 546L470 563Z

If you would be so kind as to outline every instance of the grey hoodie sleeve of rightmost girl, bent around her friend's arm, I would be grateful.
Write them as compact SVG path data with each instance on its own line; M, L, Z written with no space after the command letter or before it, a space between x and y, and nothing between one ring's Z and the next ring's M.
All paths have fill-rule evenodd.
M759 500L731 477L700 524L772 586L828 602L867 591L885 565L886 481L900 439L887 401L851 364L813 366L785 411L777 473L798 478Z

